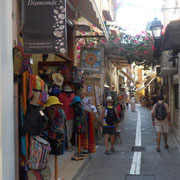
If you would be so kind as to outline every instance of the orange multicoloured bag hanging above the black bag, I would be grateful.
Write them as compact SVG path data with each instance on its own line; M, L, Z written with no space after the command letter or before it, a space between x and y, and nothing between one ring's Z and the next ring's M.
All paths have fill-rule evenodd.
M28 83L30 104L43 106L48 99L48 86L44 80L35 74L29 75Z

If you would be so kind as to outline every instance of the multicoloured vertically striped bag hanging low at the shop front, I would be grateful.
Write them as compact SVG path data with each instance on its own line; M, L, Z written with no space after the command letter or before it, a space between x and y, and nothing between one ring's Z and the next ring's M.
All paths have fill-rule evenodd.
M48 157L51 147L49 142L39 136L30 139L30 155L27 162L30 169L42 170L48 167Z

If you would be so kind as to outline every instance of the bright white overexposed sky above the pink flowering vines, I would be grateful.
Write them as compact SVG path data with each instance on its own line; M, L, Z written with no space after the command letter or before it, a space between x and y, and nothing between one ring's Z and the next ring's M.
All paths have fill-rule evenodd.
M147 22L153 21L155 17L161 19L162 0L121 1L116 21L128 34L135 35L145 31Z

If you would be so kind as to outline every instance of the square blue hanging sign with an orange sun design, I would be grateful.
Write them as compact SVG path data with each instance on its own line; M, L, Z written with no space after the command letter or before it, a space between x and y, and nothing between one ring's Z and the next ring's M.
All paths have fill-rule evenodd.
M85 72L101 73L103 50L98 48L82 48L80 68Z

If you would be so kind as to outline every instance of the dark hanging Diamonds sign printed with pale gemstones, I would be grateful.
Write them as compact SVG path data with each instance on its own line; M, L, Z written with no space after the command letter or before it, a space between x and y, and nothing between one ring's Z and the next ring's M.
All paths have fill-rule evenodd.
M66 1L24 0L25 54L66 53Z

